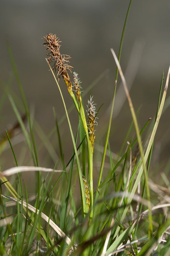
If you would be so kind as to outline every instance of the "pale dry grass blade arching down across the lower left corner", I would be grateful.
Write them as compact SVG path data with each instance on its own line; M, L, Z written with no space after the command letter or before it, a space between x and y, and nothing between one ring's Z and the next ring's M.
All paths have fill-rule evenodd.
M19 204L21 205L21 200L18 200L14 197L10 197L10 196L4 196L1 195L2 197L8 198L10 200L13 200L15 202L19 202ZM30 204L27 204L26 202L23 202L23 206L28 207L29 210L35 212L38 214L39 210L36 209L35 207L33 207ZM48 216L45 215L43 212L41 212L41 217L48 223ZM49 225L57 232L57 234L59 234L60 237L62 238L66 238L66 243L69 245L71 243L71 240L68 236L66 236L66 234L54 223L54 221L52 221L51 219L49 220Z

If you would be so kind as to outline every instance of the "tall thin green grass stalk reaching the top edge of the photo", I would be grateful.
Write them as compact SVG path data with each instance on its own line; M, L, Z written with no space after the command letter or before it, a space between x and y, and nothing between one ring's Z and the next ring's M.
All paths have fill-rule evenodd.
M131 4L132 4L132 0L130 0L129 7L128 7L128 10L127 10L127 14L126 14L126 19L125 19L124 27L123 27L123 32L122 32L122 37L121 37L121 42L120 42L120 48L119 48L119 57L118 57L119 61L120 61L120 57L121 57L123 38L124 38L124 34L125 34L125 29L126 29L126 24L127 24L127 19L128 19L129 12L130 12ZM110 134L110 128L111 128L111 122L112 122L112 115L113 115L113 108L114 108L114 100L115 100L115 93L116 93L116 85L117 85L118 73L119 73L119 69L117 68L117 70L116 70L116 79L115 79L115 87L114 87L114 93L113 93L113 101L112 101L112 106L111 106L111 112L110 112L110 118L109 118L107 135L106 135L106 141L105 141L105 144L104 144L104 150L103 150L103 156L102 156L102 161L101 161L100 173L99 173L99 178L98 178L98 183L97 183L97 188L98 189L96 190L95 202L97 201L99 190L100 190L99 186L100 186L100 182L101 182L101 176L102 176L103 167L104 167L104 160L105 160L106 150L107 150L107 145L108 145L108 140L109 140L109 134Z

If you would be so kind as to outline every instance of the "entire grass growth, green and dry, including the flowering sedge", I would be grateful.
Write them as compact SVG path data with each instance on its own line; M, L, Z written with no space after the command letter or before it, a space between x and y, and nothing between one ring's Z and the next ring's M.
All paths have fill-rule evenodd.
M44 45L47 50L46 61L54 76L54 82L58 86L66 112L65 117L69 124L68 133L72 137L73 152L68 163L65 161L62 150L60 125L55 109L53 111L56 127L37 147L34 133L36 131L43 134L43 131L30 114L11 48L7 44L22 103L18 104L19 100L14 97L7 84L4 95L1 97L1 108L7 95L18 123L10 130L6 130L6 135L0 144L2 153L6 144L9 143L16 165L8 170L2 168L0 173L1 255L170 255L169 162L162 173L164 183L155 184L148 177L149 171L154 172L150 162L156 129L165 103L170 69L163 89L164 74L162 74L154 125L150 125L149 119L140 130L119 64L131 3L132 1L125 19L118 58L111 49L117 65L113 100L102 155L97 153L95 160L93 151L100 106L95 104L95 95L83 104L81 90L85 88L81 88L79 75L75 72L71 73L70 56L60 53L62 47L59 39L53 34L47 34L44 37ZM52 63L51 66L50 63ZM57 72L54 73L54 70ZM127 134L122 135L124 142L119 155L115 155L110 150L109 134L118 73L128 99L132 123L127 127ZM72 76L73 83L71 83ZM66 92L72 97L77 116L79 116L77 131L72 131L59 79L65 81ZM24 109L23 116L20 115L21 105ZM167 108L168 102L165 106ZM18 130L22 131L25 145L29 150L28 166L18 166L18 159L13 149L13 139ZM145 130L151 131L149 137L143 137ZM58 136L60 152L56 157L49 140L54 131ZM130 131L135 131L135 138L129 136ZM43 145L51 158L55 159L53 169L39 166L38 154ZM106 166L107 154L109 161ZM94 178L96 159L100 163L100 171ZM33 166L30 163L33 163ZM34 198L28 197L28 184L25 185L21 179L21 173L24 172L35 173L36 195ZM8 176L10 176L9 180ZM97 183L97 187L94 183ZM78 190L77 187L79 187Z

